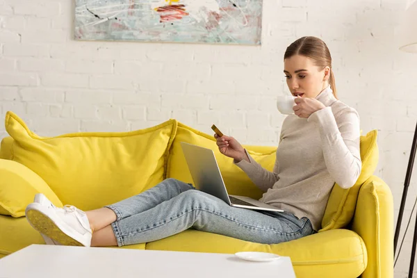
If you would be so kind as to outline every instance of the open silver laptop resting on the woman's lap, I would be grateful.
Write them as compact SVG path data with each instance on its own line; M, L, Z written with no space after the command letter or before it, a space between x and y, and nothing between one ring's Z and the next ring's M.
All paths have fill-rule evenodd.
M188 169L193 177L195 188L222 199L229 206L238 208L249 208L257 211L276 211L283 210L265 204L250 197L229 195L222 178L214 152L211 149L181 142L183 154L186 157Z

